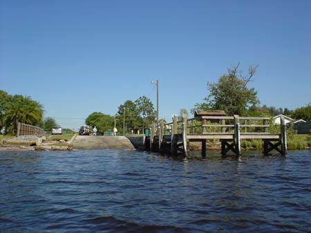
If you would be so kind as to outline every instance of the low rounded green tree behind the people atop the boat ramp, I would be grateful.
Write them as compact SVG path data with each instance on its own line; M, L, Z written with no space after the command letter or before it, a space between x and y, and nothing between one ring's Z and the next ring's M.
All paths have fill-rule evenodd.
M102 112L93 112L85 120L86 125L90 125L93 128L96 126L98 134L103 134L106 130L113 129L113 122L114 117Z

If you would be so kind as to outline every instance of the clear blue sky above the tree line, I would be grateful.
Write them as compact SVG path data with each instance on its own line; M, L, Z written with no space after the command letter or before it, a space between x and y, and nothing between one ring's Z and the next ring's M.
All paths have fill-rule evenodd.
M0 0L0 90L78 128L143 95L160 118L202 103L241 63L261 105L311 102L311 1Z

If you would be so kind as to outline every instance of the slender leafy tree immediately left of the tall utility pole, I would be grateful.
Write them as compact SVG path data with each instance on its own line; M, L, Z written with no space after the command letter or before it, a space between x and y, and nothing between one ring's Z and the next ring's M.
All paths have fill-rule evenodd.
M153 108L153 103L145 96L135 100L135 105L138 110L138 116L142 117L142 132L144 132L144 128L151 125L156 119L156 112Z

